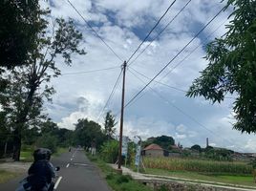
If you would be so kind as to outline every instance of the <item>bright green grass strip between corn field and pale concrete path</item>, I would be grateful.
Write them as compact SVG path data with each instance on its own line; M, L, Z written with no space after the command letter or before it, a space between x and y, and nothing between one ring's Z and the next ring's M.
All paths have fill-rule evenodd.
M221 183L256 186L251 175L225 175L225 174L206 174L188 171L169 171L163 169L147 168L145 174L176 177L190 180L217 181Z

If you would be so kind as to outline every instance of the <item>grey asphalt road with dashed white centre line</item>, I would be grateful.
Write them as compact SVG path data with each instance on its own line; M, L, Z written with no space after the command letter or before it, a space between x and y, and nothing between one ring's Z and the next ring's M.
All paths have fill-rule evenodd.
M52 160L59 166L55 190L59 191L111 191L106 181L100 176L96 166L86 158L83 150L73 149ZM1 191L14 191L23 175L7 183L0 184Z

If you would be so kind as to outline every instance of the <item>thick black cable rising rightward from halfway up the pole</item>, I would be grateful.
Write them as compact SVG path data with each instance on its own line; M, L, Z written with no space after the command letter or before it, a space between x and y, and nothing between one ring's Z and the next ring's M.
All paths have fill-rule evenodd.
M154 81L177 57L178 57L178 55L180 55L185 49L186 49L186 47L188 47L188 45L190 45L191 44L191 42L193 42L198 36L199 36L199 34L201 33L201 32L203 32L203 30L222 12L222 11L224 11L224 9L225 9L225 7L221 10L221 11L219 11L204 27L203 27L203 29L202 30L200 30L200 32L198 32L182 49L181 49L181 51L179 52L179 53L177 53L161 70L160 70L160 72L158 73L158 74L156 74L140 91L139 91L139 93L136 95L136 96L134 96L130 101L128 101L128 103L125 105L125 107L127 106L127 105L129 105L137 96L139 96L139 94L141 93L141 92L143 92L145 89L146 89L146 87L148 87L148 85L149 84L151 84L152 83L152 81Z

